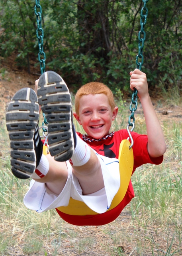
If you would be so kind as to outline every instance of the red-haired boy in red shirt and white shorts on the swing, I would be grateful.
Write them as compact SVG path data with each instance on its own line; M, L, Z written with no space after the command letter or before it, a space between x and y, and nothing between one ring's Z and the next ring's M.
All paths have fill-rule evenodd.
M138 90L143 106L148 135L132 133L134 172L147 162L160 164L166 145L148 94L146 75L138 69L130 75L130 87ZM109 133L118 111L112 92L100 83L86 84L78 90L74 117L87 133L85 136L74 131L70 94L58 74L48 71L41 75L37 96L38 102L33 90L23 88L14 95L6 113L12 172L18 178L33 178L25 205L38 212L61 207L59 215L76 225L102 225L114 220L109 215L117 217L134 193L130 181L117 209L109 209L120 186L119 144L128 137L126 130ZM49 122L47 156L42 154L38 133L39 105ZM72 199L86 204L94 214L80 217L64 212Z

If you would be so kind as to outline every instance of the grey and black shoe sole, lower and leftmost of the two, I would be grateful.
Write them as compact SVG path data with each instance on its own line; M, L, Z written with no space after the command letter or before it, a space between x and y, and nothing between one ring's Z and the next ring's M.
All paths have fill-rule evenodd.
M27 179L36 168L33 136L39 121L37 95L31 88L20 89L6 112L6 127L11 147L11 170L14 176Z

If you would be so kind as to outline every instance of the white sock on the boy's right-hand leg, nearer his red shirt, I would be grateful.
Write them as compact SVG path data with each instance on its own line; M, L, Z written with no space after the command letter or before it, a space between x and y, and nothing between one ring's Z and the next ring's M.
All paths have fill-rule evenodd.
M90 159L90 147L76 134L76 148L70 159L70 164L73 166L81 166Z

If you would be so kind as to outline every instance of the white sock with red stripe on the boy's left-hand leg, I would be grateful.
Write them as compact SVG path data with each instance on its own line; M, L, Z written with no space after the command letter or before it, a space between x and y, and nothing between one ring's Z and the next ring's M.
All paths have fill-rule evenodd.
M47 157L42 154L39 165L35 169L35 172L31 175L32 179L41 179L43 178L47 172L49 171L49 161Z

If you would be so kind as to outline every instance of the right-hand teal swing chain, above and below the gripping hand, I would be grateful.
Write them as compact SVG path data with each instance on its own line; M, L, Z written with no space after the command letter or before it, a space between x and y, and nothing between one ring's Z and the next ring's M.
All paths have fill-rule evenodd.
M145 38L146 38L146 33L144 31L144 27L145 24L147 22L147 15L148 15L148 9L146 7L146 3L149 0L142 0L144 3L144 6L141 8L141 13L140 13L140 25L141 25L141 30L139 31L138 34L138 39L139 39L139 44L138 44L138 48L139 48L139 52L138 55L136 57L136 64L137 64L137 68L139 70L141 70L141 67L143 65L143 47L144 47L144 42L145 42ZM145 14L143 14L143 12L145 11ZM143 36L141 38L141 35ZM139 58L141 58L141 62L139 62ZM135 124L135 111L137 110L137 90L135 89L132 96L131 96L131 103L129 106L129 110L131 111L131 114L129 116L129 120L128 120L128 124L129 126L133 126L133 124ZM135 105L135 107L133 107L133 105ZM133 122L131 122L131 120L133 120Z

